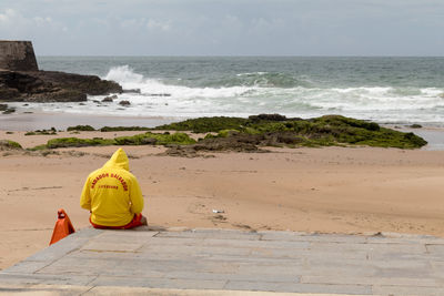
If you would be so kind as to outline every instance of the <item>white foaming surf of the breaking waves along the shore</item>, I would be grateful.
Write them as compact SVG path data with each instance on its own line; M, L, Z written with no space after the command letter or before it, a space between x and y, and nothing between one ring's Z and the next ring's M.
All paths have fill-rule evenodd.
M261 75L266 72L242 75L249 74ZM112 103L97 103L93 100L100 101L104 96L90 96L84 105L47 103L29 104L28 108L83 114L167 118L248 116L259 113L311 118L334 113L387 123L444 123L444 89L437 88L190 88L145 78L128 65L111 68L104 79L119 82L123 89L140 89L141 93L119 94L119 100ZM120 100L130 101L131 106L122 108L118 104ZM19 103L16 106L22 108Z

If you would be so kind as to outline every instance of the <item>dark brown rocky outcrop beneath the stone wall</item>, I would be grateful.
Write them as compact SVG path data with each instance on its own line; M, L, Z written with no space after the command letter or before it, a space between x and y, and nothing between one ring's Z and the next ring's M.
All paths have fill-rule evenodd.
M80 102L87 101L87 94L121 92L118 83L94 75L0 70L0 101Z

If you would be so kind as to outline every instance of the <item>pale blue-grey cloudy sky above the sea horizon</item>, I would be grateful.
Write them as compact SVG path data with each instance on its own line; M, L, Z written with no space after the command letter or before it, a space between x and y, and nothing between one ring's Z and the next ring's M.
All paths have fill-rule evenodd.
M440 55L444 0L1 0L38 55Z

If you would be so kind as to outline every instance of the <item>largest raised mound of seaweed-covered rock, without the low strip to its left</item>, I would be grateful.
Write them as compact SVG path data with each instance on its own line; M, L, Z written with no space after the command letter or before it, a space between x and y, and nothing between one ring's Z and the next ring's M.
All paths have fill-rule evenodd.
M169 129L192 132L216 132L208 137L232 137L236 143L240 134L260 135L256 144L272 146L330 146L369 145L380 147L417 149L427 142L413 134L382 127L377 123L355 120L341 115L325 115L302 120L286 119L279 114L260 114L249 119L201 118L161 125ZM213 140L226 143L228 140Z

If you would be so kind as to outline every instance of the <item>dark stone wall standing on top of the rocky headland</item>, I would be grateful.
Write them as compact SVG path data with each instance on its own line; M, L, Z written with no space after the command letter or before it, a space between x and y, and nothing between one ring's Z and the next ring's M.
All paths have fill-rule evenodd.
M0 69L38 71L32 42L0 40Z

